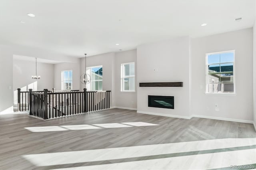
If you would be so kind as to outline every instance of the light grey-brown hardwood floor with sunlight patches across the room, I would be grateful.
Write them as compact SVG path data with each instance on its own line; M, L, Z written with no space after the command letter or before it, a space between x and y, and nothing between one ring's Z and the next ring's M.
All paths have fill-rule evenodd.
M155 125L134 126L133 122ZM106 123L121 124L102 125ZM255 149L256 133L246 123L124 109L49 121L26 114L0 115L0 170L212 169L232 164L256 168Z

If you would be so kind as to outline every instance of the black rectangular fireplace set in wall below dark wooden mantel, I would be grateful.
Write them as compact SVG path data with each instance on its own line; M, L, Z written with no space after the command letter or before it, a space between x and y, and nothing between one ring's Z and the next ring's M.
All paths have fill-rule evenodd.
M174 96L148 96L148 107L174 109Z

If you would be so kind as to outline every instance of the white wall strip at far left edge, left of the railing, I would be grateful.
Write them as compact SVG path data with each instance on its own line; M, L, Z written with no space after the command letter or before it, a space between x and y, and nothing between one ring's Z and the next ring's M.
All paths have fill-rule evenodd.
M12 95L12 52L8 47L0 45L0 114L13 109ZM9 89L11 87L11 89Z

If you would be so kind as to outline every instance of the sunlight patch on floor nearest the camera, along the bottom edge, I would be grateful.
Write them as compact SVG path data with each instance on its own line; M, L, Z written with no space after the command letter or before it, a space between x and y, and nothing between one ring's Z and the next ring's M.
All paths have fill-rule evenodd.
M256 149L217 152L160 158L153 160L138 160L113 164L79 166L60 168L58 170L177 170L177 169L215 169L230 167L231 165L253 164L256 162ZM57 170L57 169L56 169Z

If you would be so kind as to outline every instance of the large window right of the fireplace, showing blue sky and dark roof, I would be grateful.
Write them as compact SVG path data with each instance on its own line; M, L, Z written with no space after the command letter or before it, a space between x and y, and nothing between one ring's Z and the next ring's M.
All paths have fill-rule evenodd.
M206 93L235 93L235 51L206 54Z

